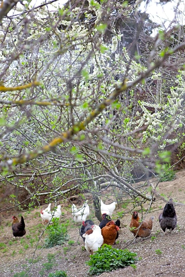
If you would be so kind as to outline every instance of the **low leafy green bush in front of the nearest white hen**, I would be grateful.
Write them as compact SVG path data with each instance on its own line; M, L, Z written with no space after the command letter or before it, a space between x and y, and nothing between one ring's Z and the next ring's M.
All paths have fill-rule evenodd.
M135 263L137 254L130 252L128 249L116 249L111 245L104 244L101 248L90 255L90 260L86 264L90 266L90 274L101 274L117 268L123 268Z

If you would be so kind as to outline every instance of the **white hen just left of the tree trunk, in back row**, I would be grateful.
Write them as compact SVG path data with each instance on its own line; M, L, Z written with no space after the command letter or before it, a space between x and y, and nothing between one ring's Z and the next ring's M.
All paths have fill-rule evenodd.
M81 223L82 221L86 220L86 217L89 215L89 205L87 204L88 201L84 203L84 205L77 209L75 204L72 204L72 213L73 219L76 223Z

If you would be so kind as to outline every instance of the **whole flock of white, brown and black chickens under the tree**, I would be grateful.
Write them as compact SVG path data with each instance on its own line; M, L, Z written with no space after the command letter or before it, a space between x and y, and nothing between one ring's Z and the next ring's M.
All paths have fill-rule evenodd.
M95 225L92 220L86 220L90 212L87 200L83 207L79 209L72 204L73 219L76 223L82 222L79 234L84 240L85 248L89 254L93 254L103 244L113 245L115 240L118 238L119 230L121 228L120 220L111 220L116 204L116 202L112 202L111 204L106 205L101 200L102 220L99 226ZM45 210L41 210L40 212L40 216L44 224L50 222L53 217L60 218L61 216L60 205L58 205L52 212L50 210L50 206L51 204L49 204ZM13 216L12 219L12 232L14 237L22 237L25 235L26 231L23 217L21 217L20 222L15 216ZM133 233L135 238L148 237L151 234L153 219L154 217L152 216L149 220L140 221L138 213L134 211L130 222L130 232ZM158 219L161 229L165 233L168 229L171 232L176 227L177 216L173 205L173 199L170 199L168 203L166 203Z

